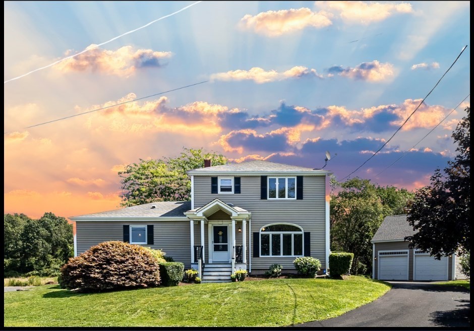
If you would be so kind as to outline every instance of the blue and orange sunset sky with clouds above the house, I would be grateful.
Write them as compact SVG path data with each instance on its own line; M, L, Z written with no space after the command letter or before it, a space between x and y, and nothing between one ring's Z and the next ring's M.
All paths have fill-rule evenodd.
M192 4L4 3L4 213L116 209L117 171L183 147L312 168L330 151L342 179L470 40L469 2L201 2L95 46ZM376 177L469 94L470 47L351 177L416 189L446 166L469 98Z

